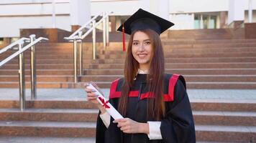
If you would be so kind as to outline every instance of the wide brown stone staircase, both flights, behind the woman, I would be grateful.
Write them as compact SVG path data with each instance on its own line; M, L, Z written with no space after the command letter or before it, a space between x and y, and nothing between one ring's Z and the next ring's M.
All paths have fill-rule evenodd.
M203 31L189 32L194 39L189 39L191 35L179 39L186 31L175 34L174 39L163 38L166 72L183 74L188 89L256 89L255 39L231 39L225 30L215 35L206 31L214 39L205 37ZM116 41L104 52L102 44L97 44L96 60L92 60L91 44L83 43L84 69L78 84L73 82L73 44L38 44L37 87L64 90L94 81L109 88L123 74L125 53L122 43ZM1 54L0 61L13 52ZM29 88L29 51L25 59ZM0 67L0 88L18 88L17 63L16 58ZM198 142L256 142L255 100L206 99L192 101L191 106ZM97 113L84 99L27 101L24 112L19 111L18 101L0 99L0 142L95 142Z

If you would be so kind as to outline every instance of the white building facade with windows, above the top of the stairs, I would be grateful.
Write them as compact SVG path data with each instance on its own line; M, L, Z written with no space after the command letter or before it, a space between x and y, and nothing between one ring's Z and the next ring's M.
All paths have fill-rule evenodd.
M19 37L19 29L71 31L103 11L112 12L109 29L115 31L140 8L175 23L171 29L226 28L232 21L250 21L248 9L256 22L256 0L2 0L0 37Z

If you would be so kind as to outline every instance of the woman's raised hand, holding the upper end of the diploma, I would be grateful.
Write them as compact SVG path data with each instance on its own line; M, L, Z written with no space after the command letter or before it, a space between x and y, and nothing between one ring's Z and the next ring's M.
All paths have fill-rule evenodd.
M99 89L99 87L96 84L94 84L94 83L91 83L91 84L93 84L93 87L95 87L103 95L103 93L101 92L101 90ZM96 91L93 91L93 89L87 88L88 83L84 84L84 86L85 86L84 90L87 93L87 100L89 102L92 102L93 104L95 104L101 110L101 114L104 114L106 112L106 109L104 109L104 107L102 107L101 104L99 104L99 102L97 101L97 98L99 95L94 94L94 92L96 92Z

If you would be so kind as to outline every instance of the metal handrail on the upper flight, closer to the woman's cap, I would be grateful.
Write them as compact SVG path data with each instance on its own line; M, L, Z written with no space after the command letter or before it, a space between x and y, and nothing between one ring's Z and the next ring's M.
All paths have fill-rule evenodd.
M81 26L78 30L76 30L73 34L71 34L68 37L65 37L64 39L67 39L69 41L73 41L73 47L74 47L74 82L78 82L78 74L77 74L77 59L79 57L79 75L82 76L83 71L83 39L88 36L92 32L93 36L93 59L96 59L96 26L103 23L103 44L104 44L104 50L106 49L106 45L109 44L109 14L113 12L107 12L107 13L101 13L97 16L94 16L93 19L88 21L86 24ZM96 18L102 16L102 18L96 23ZM88 29L83 34L83 29L86 28L89 24L92 24L92 27Z

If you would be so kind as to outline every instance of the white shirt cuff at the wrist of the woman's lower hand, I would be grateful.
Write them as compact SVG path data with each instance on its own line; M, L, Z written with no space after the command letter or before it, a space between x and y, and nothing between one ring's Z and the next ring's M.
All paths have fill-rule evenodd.
M147 122L150 128L150 134L147 137L150 139L163 139L160 131L161 122Z

